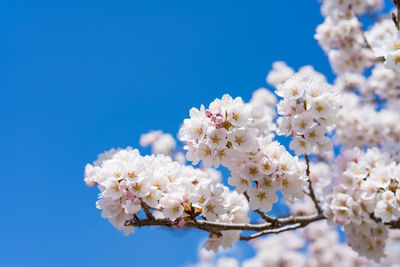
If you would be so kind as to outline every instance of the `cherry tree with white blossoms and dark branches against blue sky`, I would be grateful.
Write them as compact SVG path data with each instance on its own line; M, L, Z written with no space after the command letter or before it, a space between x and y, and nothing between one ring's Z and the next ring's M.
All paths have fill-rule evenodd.
M392 2L385 14L382 0L322 1L314 37L333 84L312 66L277 61L266 78L275 94L223 95L189 111L178 133L185 154L162 131L141 137L152 155L100 154L84 180L100 190L102 217L126 235L146 226L207 232L199 266L238 266L207 251L250 240L257 253L247 267L398 262L400 0ZM288 216L272 215L279 199Z

